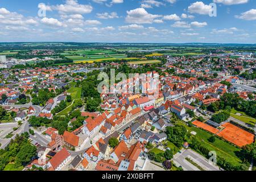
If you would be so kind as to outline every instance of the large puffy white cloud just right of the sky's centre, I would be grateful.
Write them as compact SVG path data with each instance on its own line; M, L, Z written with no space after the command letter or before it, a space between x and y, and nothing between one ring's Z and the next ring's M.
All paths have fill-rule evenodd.
M127 23L137 23L137 24L146 24L153 23L156 18L159 18L161 15L152 15L147 13L143 8L137 8L135 10L127 11L126 22Z

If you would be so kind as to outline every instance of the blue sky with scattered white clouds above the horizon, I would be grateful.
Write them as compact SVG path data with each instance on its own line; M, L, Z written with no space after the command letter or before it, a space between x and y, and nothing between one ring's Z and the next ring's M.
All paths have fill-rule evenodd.
M256 43L256 0L0 0L0 42Z

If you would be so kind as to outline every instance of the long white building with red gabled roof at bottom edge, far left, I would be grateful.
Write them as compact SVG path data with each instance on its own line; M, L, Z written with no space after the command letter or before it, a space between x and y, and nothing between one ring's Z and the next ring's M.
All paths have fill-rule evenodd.
M47 164L48 171L60 171L71 160L71 154L63 148Z

